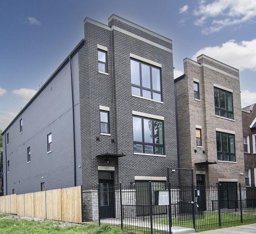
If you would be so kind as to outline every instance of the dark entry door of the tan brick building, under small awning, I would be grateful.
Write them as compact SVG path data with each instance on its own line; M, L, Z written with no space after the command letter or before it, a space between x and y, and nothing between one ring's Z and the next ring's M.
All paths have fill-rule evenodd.
M205 175L196 175L196 199L198 211L206 210Z

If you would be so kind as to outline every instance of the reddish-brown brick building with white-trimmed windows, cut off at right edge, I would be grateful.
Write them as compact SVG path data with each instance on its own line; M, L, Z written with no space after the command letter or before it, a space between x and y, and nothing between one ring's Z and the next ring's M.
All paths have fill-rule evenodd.
M247 186L256 186L256 103L242 108L244 176Z

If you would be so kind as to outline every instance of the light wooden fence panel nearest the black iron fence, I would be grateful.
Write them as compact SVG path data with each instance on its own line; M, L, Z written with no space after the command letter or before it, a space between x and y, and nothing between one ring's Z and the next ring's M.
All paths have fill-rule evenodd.
M62 188L62 221L82 223L81 186Z

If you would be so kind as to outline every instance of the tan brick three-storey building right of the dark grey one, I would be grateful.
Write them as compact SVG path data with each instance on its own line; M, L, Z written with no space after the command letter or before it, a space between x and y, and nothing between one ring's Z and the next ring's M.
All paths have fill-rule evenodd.
M174 82L180 167L194 169L197 186L244 183L238 69L205 55L186 58ZM181 174L181 182L190 177Z

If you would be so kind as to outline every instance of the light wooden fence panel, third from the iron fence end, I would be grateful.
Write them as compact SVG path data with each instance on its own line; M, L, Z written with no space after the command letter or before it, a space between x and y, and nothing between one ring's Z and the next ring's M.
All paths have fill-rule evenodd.
M34 192L34 217L46 218L46 191Z

